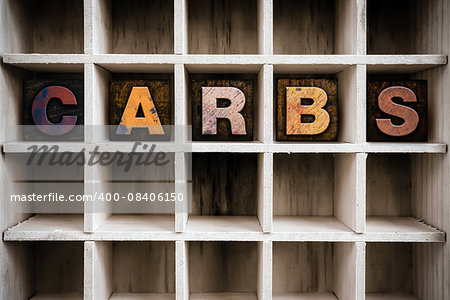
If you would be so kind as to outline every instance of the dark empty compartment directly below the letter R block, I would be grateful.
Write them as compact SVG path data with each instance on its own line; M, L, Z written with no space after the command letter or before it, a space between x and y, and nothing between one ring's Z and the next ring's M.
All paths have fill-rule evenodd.
M257 154L193 153L188 231L260 231Z

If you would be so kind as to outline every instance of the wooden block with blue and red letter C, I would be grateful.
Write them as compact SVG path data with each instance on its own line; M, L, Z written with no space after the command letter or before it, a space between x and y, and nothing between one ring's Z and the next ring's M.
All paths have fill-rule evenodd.
M24 140L82 141L83 124L83 80L24 81Z

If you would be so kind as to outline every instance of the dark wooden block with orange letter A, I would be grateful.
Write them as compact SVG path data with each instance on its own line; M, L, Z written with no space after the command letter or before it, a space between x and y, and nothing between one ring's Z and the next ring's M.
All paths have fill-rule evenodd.
M168 76L110 80L110 140L170 140L172 115L172 81Z

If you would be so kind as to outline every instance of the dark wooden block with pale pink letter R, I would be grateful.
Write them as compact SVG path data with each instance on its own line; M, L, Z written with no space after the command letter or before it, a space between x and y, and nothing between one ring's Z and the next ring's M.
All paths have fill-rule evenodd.
M191 78L192 140L252 141L255 76Z

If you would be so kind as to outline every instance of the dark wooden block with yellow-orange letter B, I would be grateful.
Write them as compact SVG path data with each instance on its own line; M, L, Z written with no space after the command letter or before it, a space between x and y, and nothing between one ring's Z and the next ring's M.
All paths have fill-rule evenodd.
M277 80L277 141L337 140L337 80Z

